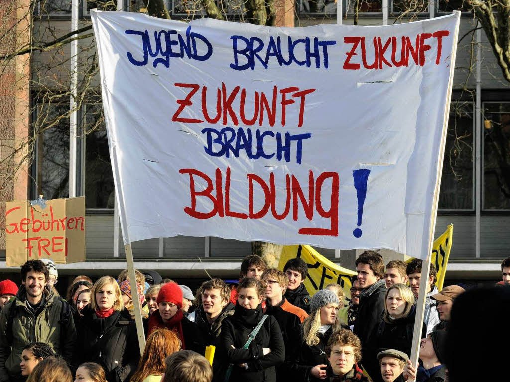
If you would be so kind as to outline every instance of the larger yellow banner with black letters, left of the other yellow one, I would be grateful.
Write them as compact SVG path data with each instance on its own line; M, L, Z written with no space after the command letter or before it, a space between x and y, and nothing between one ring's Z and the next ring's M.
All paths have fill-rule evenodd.
M342 286L344 296L350 299L350 277L356 272L331 263L310 245L285 245L280 256L278 269L283 270L290 259L300 258L308 265L308 276L304 281L310 296L331 283Z

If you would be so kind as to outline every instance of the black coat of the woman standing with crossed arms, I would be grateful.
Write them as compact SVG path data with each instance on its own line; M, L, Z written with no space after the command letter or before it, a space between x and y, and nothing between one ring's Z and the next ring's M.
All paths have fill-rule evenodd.
M267 317L257 336L247 349L242 347L248 335L263 317L262 306L257 309L245 309L236 304L234 315L226 317L221 323L220 356L223 362L218 381L224 380L229 363L234 365L229 382L275 382L275 366L285 361L285 347L282 331L274 317ZM234 347L233 347L234 346ZM263 348L271 352L264 355ZM246 363L248 368L240 367Z

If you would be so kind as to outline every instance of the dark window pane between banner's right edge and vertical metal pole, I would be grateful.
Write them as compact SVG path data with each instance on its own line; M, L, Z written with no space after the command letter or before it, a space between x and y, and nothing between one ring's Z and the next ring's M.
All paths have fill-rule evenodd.
M473 209L473 104L452 102L439 208Z

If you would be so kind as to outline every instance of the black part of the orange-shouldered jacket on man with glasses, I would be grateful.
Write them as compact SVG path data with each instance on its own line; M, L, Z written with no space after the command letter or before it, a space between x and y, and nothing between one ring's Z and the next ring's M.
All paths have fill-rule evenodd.
M266 303L266 314L273 316L282 330L282 337L285 344L285 362L276 368L278 381L283 381L298 370L299 347L303 341L303 325L301 319L294 313L284 311L282 304L285 297L276 306Z

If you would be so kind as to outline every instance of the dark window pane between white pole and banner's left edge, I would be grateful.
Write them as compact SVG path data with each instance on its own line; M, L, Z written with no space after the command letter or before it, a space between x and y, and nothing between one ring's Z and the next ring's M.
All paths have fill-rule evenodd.
M114 208L114 186L108 138L101 105L87 105L85 137L85 207Z

